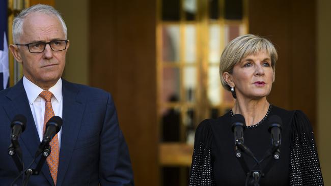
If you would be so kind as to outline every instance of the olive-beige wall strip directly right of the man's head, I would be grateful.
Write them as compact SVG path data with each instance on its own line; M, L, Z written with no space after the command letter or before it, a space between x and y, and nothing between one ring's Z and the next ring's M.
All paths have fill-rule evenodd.
M89 84L89 0L55 0L55 8L66 22L70 41L63 78Z

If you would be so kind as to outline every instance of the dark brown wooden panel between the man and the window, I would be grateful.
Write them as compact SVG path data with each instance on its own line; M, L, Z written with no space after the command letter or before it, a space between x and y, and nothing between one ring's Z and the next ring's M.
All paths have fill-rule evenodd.
M112 92L136 185L158 185L156 2L90 2L90 84Z

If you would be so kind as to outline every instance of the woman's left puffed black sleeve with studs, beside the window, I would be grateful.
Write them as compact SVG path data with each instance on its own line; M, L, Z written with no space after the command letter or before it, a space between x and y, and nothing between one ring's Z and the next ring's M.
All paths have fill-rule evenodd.
M202 121L197 130L189 175L189 186L215 185L212 171L212 132L210 120Z

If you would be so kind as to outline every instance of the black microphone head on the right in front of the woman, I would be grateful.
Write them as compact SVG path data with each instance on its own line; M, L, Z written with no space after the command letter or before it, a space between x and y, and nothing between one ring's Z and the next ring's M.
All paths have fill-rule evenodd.
M274 147L278 147L282 143L282 119L278 115L271 115L268 120L271 144Z

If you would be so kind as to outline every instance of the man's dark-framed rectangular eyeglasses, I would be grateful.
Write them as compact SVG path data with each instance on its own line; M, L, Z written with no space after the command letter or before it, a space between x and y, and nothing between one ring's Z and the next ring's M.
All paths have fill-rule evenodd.
M27 43L27 44L15 44L19 46L27 46L29 52L31 53L41 53L45 50L48 44L53 51L62 51L67 48L68 40L55 40L50 42L37 42L37 43Z

